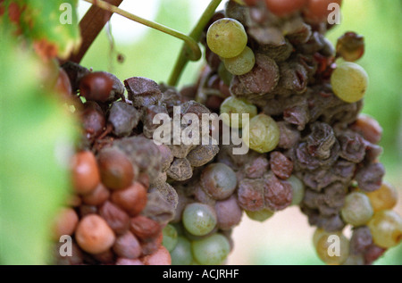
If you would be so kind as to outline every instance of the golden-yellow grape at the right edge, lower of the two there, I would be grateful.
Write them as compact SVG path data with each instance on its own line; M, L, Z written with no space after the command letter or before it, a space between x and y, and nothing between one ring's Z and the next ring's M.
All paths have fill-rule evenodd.
M397 212L384 210L376 212L367 226L377 246L389 248L402 240L402 217Z

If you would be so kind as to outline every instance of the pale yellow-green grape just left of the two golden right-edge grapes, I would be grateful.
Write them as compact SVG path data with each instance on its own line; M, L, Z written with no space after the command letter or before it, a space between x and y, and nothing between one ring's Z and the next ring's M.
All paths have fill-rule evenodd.
M363 193L353 192L346 197L340 214L348 224L361 226L372 218L373 207L368 196Z

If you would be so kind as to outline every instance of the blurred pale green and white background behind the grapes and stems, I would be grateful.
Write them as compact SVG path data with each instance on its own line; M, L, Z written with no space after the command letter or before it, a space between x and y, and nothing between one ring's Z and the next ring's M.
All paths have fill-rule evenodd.
M153 2L157 11L155 21L188 33L195 24L207 0L160 0ZM223 1L225 2L225 1ZM85 5L80 2L81 16ZM222 6L221 6L222 7ZM124 5L122 6L124 8ZM364 102L364 111L381 123L383 137L381 146L384 153L386 178L398 187L402 196L402 1L398 0L344 0L341 24L328 33L333 44L345 31L353 30L365 37L365 54L358 61L370 76L370 86ZM136 11L130 10L136 13ZM138 14L141 16L141 14ZM113 15L113 18L120 17ZM112 21L113 22L113 21ZM123 21L124 32L132 37L136 29L142 29L137 23ZM111 30L119 29L120 24L112 23ZM121 36L119 36L121 37ZM166 81L172 71L173 63L179 54L180 40L163 33L147 29L132 42L127 38L115 37L111 48L110 37L105 29L96 38L82 62L96 71L112 71L121 80L134 76L144 76L157 82ZM111 57L110 54L113 54ZM117 53L124 55L122 63L117 62ZM106 58L112 58L107 60ZM191 62L184 72L180 85L190 84L197 79L197 71L202 62ZM402 213L402 199L397 210ZM306 217L297 209L287 209L264 223L249 223L247 220L235 230L235 249L230 257L230 264L322 264L314 254L311 245L313 230L308 227ZM296 216L295 216L296 215ZM276 219L275 219L276 218ZM295 220L296 218L296 220ZM290 219L290 220L289 220ZM290 224L283 222L289 220ZM292 225L291 221L301 223ZM260 235L256 241L250 236L249 229ZM258 231L258 232L257 232ZM282 235L288 233L288 235ZM253 234L255 234L253 233ZM296 233L296 234L295 234ZM275 236L276 234L276 236ZM296 236L298 235L298 237ZM247 238L248 237L248 238ZM288 241L286 242L285 239ZM240 242L239 242L240 241ZM289 242L290 241L290 242ZM255 243L251 246L250 243ZM244 246L247 246L244 247ZM402 264L402 245L386 253L375 264Z

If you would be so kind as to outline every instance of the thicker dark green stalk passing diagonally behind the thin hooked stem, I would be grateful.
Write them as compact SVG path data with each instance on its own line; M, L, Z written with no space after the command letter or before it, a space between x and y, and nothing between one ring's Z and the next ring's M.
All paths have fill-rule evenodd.
M201 18L198 20L196 26L189 34L189 37L191 37L196 42L199 41L199 37L201 37L201 33L203 32L205 25L212 18L216 8L218 7L219 4L221 4L221 2L222 2L222 0L212 0L210 2L210 4L208 4L205 11L201 15ZM171 77L169 78L169 81L168 81L168 85L176 86L177 83L179 82L181 73L183 72L184 68L186 67L188 60L191 59L189 52L190 52L190 50L188 49L188 46L184 45L181 47L179 57L177 58L176 63L174 65Z

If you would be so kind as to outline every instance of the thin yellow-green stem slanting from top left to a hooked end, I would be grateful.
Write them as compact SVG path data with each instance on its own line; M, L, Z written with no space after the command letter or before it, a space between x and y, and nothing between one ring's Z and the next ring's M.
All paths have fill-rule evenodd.
M162 24L159 24L155 21L148 21L146 19L143 19L141 17L138 17L135 14L132 14L130 12L124 11L119 7L116 7L113 4L109 4L105 1L102 0L84 0L85 2L88 2L90 4L94 4L98 6L101 9L104 9L105 11L109 12L114 12L117 14L120 14L121 16L130 19L131 21L136 21L140 24L143 24L149 28L152 29L157 29L159 31L162 31L163 33L166 33L168 35L171 35L172 37L179 38L185 42L186 50L187 50L187 57L191 61L197 61L201 58L201 49L199 48L197 44L197 40L195 40L191 36L187 36L184 33L181 33L180 31L177 31L175 29L171 29L169 27L163 26ZM219 1L221 2L221 1Z

